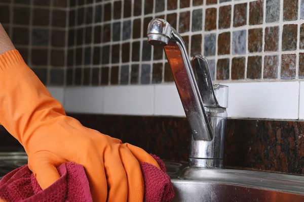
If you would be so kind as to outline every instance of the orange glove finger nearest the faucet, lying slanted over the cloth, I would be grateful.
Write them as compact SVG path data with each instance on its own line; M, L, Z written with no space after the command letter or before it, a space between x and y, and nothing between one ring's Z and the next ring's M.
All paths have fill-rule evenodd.
M151 155L146 153L145 150L143 150L142 148L134 146L134 145L129 144L129 143L124 143L123 145L130 149L133 156L140 163L146 162L146 163L152 164L152 165L156 166L157 168L161 169L160 166L158 165L158 163L156 162L156 160L153 157L151 157Z

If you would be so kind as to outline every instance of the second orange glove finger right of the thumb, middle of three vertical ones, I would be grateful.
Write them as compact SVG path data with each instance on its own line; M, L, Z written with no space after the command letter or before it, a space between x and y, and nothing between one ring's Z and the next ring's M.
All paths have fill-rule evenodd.
M119 155L121 144L109 146L104 154L104 168L108 185L108 202L127 201L128 181Z

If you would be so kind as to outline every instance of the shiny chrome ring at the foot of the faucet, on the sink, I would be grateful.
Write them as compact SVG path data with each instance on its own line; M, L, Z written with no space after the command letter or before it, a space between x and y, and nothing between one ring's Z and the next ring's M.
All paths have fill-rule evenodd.
M189 158L189 167L198 168L223 168L222 159L195 159Z

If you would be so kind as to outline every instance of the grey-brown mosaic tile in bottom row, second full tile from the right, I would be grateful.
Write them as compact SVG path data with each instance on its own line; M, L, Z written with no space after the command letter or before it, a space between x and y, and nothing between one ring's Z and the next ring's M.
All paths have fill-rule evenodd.
M279 56L265 56L264 57L264 79L278 78Z

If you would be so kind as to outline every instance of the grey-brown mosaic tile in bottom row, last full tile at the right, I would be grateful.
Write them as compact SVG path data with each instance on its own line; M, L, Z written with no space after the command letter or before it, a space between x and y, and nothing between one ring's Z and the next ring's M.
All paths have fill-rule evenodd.
M281 65L281 79L295 79L295 54L283 54Z

